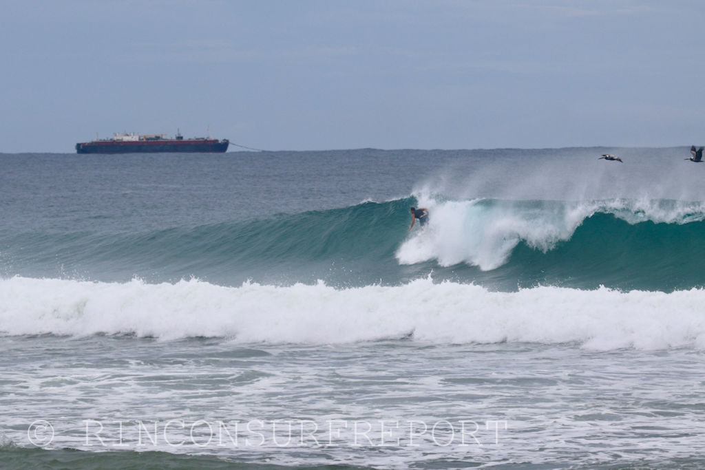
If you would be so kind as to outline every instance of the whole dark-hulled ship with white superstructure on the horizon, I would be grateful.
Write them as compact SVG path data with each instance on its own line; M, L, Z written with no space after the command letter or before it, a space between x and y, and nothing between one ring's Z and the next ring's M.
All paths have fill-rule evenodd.
M76 144L77 154L152 154L161 152L223 153L230 142L208 137L184 139L180 132L168 139L166 134L139 135L134 132L114 134L110 139Z

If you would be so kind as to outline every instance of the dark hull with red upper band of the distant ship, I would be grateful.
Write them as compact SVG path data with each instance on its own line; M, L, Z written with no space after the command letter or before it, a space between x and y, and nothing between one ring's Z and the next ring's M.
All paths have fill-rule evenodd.
M223 153L227 140L154 140L139 142L94 141L76 144L78 154L159 154L159 153Z

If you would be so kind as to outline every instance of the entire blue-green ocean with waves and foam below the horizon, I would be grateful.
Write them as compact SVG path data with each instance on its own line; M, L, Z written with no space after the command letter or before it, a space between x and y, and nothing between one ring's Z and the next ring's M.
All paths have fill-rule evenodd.
M701 469L687 157L0 154L0 468Z

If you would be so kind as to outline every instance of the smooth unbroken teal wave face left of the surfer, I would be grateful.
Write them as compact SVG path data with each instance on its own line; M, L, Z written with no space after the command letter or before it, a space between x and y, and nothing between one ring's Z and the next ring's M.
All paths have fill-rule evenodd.
M407 224L399 214L410 200L142 233L5 230L0 233L0 262L6 276L197 277L235 284L248 279L364 284L374 276L379 282L380 273L393 277L398 271L394 252Z

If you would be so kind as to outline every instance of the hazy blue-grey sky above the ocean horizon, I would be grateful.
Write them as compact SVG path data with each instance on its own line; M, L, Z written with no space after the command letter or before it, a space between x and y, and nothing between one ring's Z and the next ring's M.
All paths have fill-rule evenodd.
M0 0L0 152L705 144L705 2ZM231 147L238 150L238 147Z

